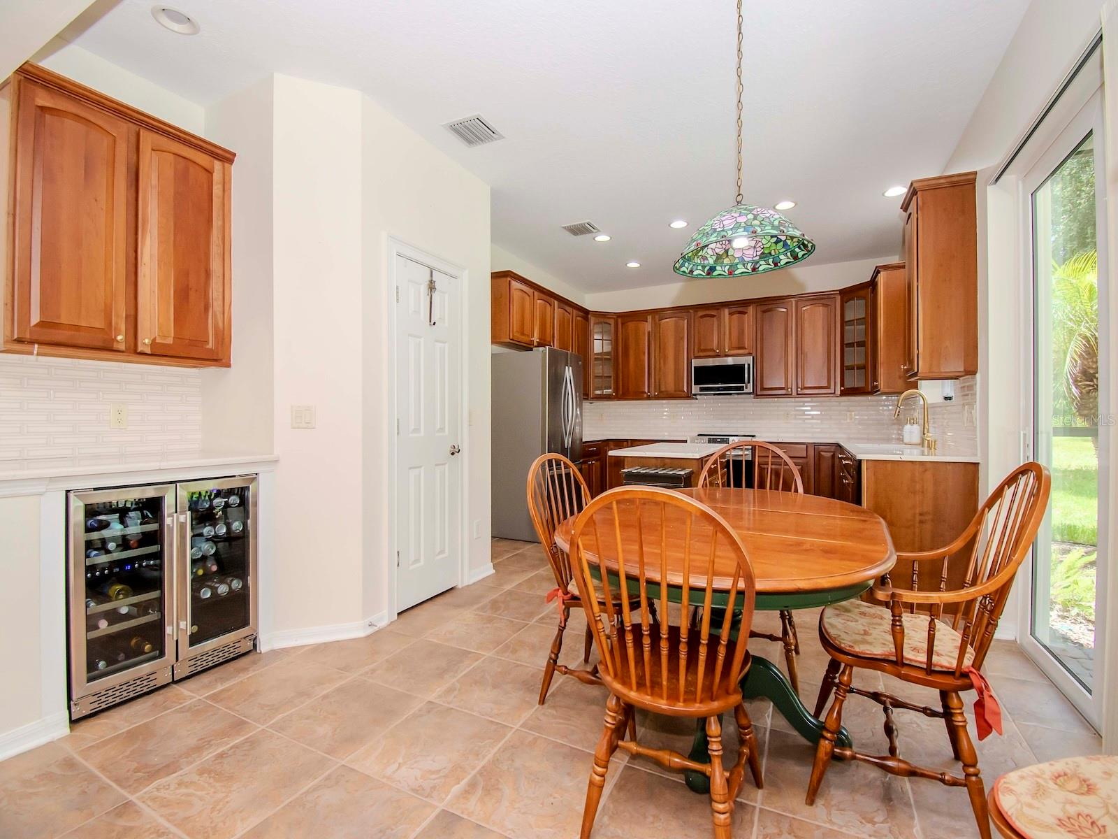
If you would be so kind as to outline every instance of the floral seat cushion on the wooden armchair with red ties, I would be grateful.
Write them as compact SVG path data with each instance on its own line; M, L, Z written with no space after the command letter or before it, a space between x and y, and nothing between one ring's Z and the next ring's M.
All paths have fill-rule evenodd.
M928 615L909 614L904 624L904 663L925 667L928 662ZM855 656L896 661L892 614L883 606L860 600L849 600L823 610L819 626L827 640ZM936 626L936 645L931 658L934 670L954 670L963 637L940 621ZM963 666L974 660L974 650L967 648Z

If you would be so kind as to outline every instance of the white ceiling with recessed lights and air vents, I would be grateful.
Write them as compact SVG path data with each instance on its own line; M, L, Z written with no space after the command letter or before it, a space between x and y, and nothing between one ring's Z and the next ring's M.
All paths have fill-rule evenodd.
M359 88L492 187L498 245L585 291L678 281L732 202L732 0L171 3L200 35L102 0L67 37L200 104L272 72ZM942 171L1026 6L746 0L746 200L798 202L807 264L896 254L882 190ZM479 112L508 139L442 128ZM559 229L584 219L613 241Z

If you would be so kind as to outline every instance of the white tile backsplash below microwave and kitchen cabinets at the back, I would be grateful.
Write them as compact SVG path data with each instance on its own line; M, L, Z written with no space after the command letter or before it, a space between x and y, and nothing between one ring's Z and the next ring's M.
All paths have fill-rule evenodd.
M757 434L807 443L899 443L904 417L920 415L909 398L893 418L896 396L757 399L703 396L698 399L591 402L582 412L585 440L688 437L702 433ZM975 378L960 379L953 402L932 403L928 420L939 451L977 454Z

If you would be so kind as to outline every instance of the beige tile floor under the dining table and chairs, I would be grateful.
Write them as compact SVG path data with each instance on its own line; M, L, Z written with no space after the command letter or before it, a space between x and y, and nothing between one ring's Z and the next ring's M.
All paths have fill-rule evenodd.
M496 573L353 641L252 654L74 726L0 763L0 837L108 839L570 839L578 835L600 689L557 677L537 706L555 631L552 587L537 545L495 540ZM770 620L765 615L761 620ZM805 696L825 666L815 616L799 619ZM572 616L563 661L581 659ZM773 644L758 651L776 658ZM1015 766L1100 748L1098 737L1015 644L987 663L1005 736L979 744L992 781ZM919 697L887 677L888 689ZM861 684L882 687L879 677ZM854 697L846 725L883 751L878 706ZM735 836L977 836L966 793L832 765L804 804L813 750L751 705L765 789L747 782ZM951 769L942 724L898 713L901 751ZM641 715L638 738L688 751L686 720ZM727 732L728 757L737 733ZM615 760L596 839L709 836L704 796L644 761Z

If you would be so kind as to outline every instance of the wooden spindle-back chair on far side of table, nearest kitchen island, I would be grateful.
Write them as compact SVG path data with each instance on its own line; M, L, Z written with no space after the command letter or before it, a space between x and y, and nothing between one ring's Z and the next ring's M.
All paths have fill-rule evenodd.
M749 455L749 460L747 460ZM714 452L699 474L699 487L723 488L733 483L733 465L741 464L745 478L747 465L754 475L754 489L778 492L804 492L804 479L787 454L771 443L759 440L742 440L730 443ZM751 630L750 638L761 638L784 645L784 660L788 667L792 689L799 692L799 670L796 657L799 654L799 637L796 634L796 619L790 609L780 610L780 634Z

